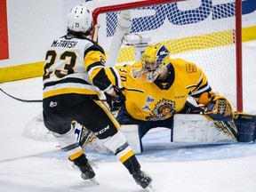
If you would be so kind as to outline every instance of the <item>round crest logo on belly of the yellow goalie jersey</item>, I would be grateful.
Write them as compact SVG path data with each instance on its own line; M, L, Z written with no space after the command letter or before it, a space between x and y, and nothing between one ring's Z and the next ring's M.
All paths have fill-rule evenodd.
M168 118L175 112L175 102L172 100L159 100L153 111L149 116L147 116L147 120L149 121L157 121Z

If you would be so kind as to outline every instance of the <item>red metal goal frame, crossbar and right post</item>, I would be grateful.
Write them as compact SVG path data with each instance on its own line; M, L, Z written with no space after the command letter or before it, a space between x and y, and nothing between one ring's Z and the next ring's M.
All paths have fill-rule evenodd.
M185 0L144 0L125 4L115 4L95 8L92 13L94 25L97 25L97 18L106 12L124 11L128 9L141 8L157 4L168 4L184 2ZM242 0L236 0L236 111L243 111L243 66L242 66Z

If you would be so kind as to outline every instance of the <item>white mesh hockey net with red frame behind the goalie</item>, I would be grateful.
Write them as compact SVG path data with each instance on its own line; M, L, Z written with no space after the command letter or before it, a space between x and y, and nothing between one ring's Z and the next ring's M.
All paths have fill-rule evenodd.
M195 62L203 68L212 90L227 96L235 110L243 110L241 1L144 0L100 7L92 1L91 6L94 23L100 25L98 43L107 56L119 52L113 65L135 60L132 45L121 44L110 50L120 12L129 11L131 34L147 34L151 43L164 44L171 58ZM51 135L44 135L49 132L44 130L42 118L39 115L28 122L25 135L52 140Z

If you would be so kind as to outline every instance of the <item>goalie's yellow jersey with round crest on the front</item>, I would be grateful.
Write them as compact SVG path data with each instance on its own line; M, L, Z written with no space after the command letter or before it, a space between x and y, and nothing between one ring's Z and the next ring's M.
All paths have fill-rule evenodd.
M188 95L198 98L202 92L210 92L206 76L201 68L186 60L171 60L167 66L169 75L165 82L144 81L141 62L132 66L116 66L106 69L112 84L124 87L125 108L135 119L157 121L179 113L185 107Z

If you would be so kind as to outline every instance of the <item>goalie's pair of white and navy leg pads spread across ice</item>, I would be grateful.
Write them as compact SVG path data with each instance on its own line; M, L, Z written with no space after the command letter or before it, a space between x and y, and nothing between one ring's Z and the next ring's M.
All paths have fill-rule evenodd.
M136 154L143 151L138 125L125 124L121 127L126 140ZM82 126L76 125L77 139L84 148L92 148L100 153L108 153L100 140ZM231 121L213 121L200 114L175 114L171 128L171 141L188 144L228 144L253 142L256 137L256 116L235 113Z

